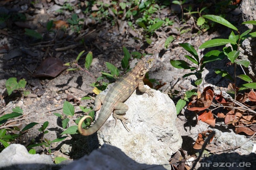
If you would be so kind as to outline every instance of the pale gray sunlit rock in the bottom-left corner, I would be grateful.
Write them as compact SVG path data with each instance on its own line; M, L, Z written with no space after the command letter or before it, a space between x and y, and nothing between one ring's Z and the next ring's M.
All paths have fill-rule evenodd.
M50 156L32 155L21 144L11 144L0 153L0 169L50 170L52 165Z

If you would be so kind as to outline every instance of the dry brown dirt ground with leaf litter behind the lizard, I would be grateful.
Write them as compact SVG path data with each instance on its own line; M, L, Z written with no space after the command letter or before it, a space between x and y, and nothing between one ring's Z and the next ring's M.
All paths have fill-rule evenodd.
M26 6L27 2L29 1L10 1L4 4L4 6L1 6L0 11L19 12L16 8ZM73 62L82 50L85 50L85 52L92 51L93 62L89 72L94 77L99 77L101 76L101 71L108 72L105 62L110 62L120 68L123 57L123 46L125 46L129 52L139 51L140 53L153 53L157 55L158 58L157 63L149 72L149 77L157 81L166 82L166 85L160 88L160 90L164 93L173 94L175 90L185 92L186 90L194 88L191 85L191 81L194 77L182 78L182 76L189 73L189 71L173 68L170 64L170 59L185 59L183 56L188 54L178 43L188 42L198 49L198 47L207 40L214 37L227 37L227 35L230 34L230 30L221 27L219 27L218 30L214 30L214 32L211 31L201 34L189 31L180 36L176 36L176 40L166 49L164 42L166 37L172 34L167 34L166 32L168 32L168 30L175 31L175 27L183 26L189 28L193 25L192 20L188 20L186 24L178 22L177 16L173 16L175 20L173 26L166 27L166 30L155 31L151 45L140 40L135 40L134 34L132 34L133 30L128 26L127 22L122 20L116 20L113 26L111 26L108 21L102 21L102 23L92 26L84 24L84 28L80 34L72 33L70 28L67 28L66 32L61 29L55 29L56 34L51 32L45 33L45 24L49 20L66 20L70 17L68 11L64 15L54 15L52 11L50 11L52 8L48 8L53 5L52 3L55 4L53 1L43 0L36 8L37 14L28 14L28 16L31 17L29 20L25 22L7 23L7 26L1 26L2 28L0 29L0 88L5 89L6 79L17 77L17 79L26 79L26 88L31 92L31 94L26 97L20 96L18 92L6 96L1 100L2 107L0 114L11 113L12 108L19 106L23 109L24 113L23 119L15 122L19 127L24 127L30 122L39 123L39 125L33 127L32 130L29 130L23 135L22 139L15 141L15 143L28 145L33 139L36 141L39 140L41 135L38 128L40 128L45 121L49 122L47 128L49 133L45 134L44 138L54 140L60 137L60 134L63 132L61 119L53 113L63 113L63 103L67 100L68 95L72 95L79 100L84 96L93 95L93 87L91 87L90 84L95 82L95 80L84 71L63 71L55 78L35 77L35 71L38 70L44 59L54 57L60 59L63 63ZM26 10L28 11L30 8L31 7L28 6ZM79 9L75 9L75 11L78 10ZM239 15L228 14L234 21L239 20ZM36 40L33 37L25 35L23 31L24 28L37 28L37 31L44 35L44 39ZM85 40L83 44L80 43L82 37ZM198 53L199 52L201 51L198 50ZM205 54L207 51L202 52ZM86 55L81 57L79 61L80 65L84 65L85 56ZM201 90L208 85L211 85L216 90L227 87L229 82L216 75L213 71L214 68L223 68L232 73L233 68L228 68L226 65L227 62L228 61L222 60L206 66L206 70L203 73L204 83L200 88ZM180 99L180 94L173 97L174 102L177 102L178 99ZM83 106L91 106L92 104L93 101L81 101L81 105ZM73 120L82 115L77 105L75 106L75 112L72 118ZM183 110L182 113L178 115L178 119L183 120L179 121L177 124L179 127L188 125L190 128L193 128L196 126L195 120L193 120L195 117L191 116L187 111ZM69 126L72 125L75 125L75 122L70 122ZM84 137L75 134L67 137L65 142L53 143L51 146L52 158L62 156L68 159L78 159L84 154L88 154L84 153L83 147L81 146L81 142L87 138L93 140L96 136ZM189 141L186 142L193 143L195 139L189 139ZM66 155L61 152L61 146L64 143L73 145L72 154ZM92 149L97 147L99 146L93 146ZM44 147L37 147L37 153L45 153L45 151ZM186 151L188 151L188 148L186 148ZM192 151L191 154L193 154Z

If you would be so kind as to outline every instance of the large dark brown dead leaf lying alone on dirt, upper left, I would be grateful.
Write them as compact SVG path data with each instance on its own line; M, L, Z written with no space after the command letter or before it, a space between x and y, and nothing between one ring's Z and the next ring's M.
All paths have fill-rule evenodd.
M33 74L35 77L56 77L68 67L57 58L49 57L44 59L37 71Z

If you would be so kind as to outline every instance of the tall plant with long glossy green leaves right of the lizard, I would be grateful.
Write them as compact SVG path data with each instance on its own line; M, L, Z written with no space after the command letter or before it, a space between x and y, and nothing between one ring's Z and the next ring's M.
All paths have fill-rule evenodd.
M249 61L244 61L239 59L239 47L241 45L241 43L248 37L256 37L256 32L251 32L252 29L249 29L247 31L244 31L244 33L240 33L238 31L238 29L233 26L231 23L229 23L227 20L225 20L222 17L219 16L215 16L215 15L203 15L202 17L207 18L209 20L212 20L216 23L220 23L224 26L227 26L228 28L233 29L234 31L237 32L237 34L235 34L233 31L231 31L230 36L228 37L228 39L214 39L214 40L208 40L207 42L204 42L199 49L202 48L209 48L209 47L215 47L215 46L220 46L220 45L226 45L228 43L230 43L231 46L229 47L224 47L223 51L218 51L218 50L212 50L209 51L207 54L204 55L204 57L201 57L201 59L199 59L198 53L195 50L194 47L192 47L192 45L185 43L185 44L180 44L180 46L182 46L186 51L188 51L190 54L192 54L192 56L189 55L185 55L185 57L187 59L189 59L189 61L191 61L193 63L193 65L196 66L192 66L192 64L189 64L188 62L185 62L184 60L171 60L171 64L172 66L174 66L175 68L183 68L183 69L190 69L192 72L189 74L185 74L183 76L184 77L188 77L191 75L195 75L196 76L196 80L193 82L193 85L195 87L198 87L198 85L201 84L202 82L202 72L204 71L204 67L208 62L213 62L215 60L221 60L224 57L227 57L230 60L230 63L234 66L234 77L231 77L230 74L227 73L227 71L223 71L220 69L215 69L215 73L218 75L221 75L222 77L226 77L229 78L231 80L234 81L234 87L236 87L236 78L241 78L244 81L247 81L248 83L245 83L243 85L240 86L240 90L244 90L247 88L253 88L256 89L256 83L252 82L252 80L250 79L250 77L248 77L245 74L241 74L239 76L236 75L236 65L242 65L244 67L248 67L250 62ZM256 21L247 21L241 24L253 24L256 25ZM236 90L233 91L234 93L234 99L236 100ZM184 99L180 99L180 100L184 100ZM185 98L186 100L186 98ZM180 108L184 105L184 102L179 101L178 102L178 106L177 108L177 112L179 113L179 111L181 110Z

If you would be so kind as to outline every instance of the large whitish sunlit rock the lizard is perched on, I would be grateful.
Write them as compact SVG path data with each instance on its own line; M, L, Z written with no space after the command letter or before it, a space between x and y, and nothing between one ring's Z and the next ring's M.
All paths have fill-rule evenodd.
M139 163L168 164L182 144L175 127L176 108L167 94L152 91L154 97L134 91L125 101L129 107L125 117L131 132L119 120L115 127L115 119L110 116L98 131L99 143L116 146Z

